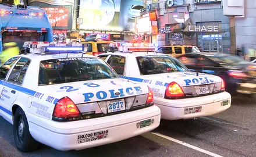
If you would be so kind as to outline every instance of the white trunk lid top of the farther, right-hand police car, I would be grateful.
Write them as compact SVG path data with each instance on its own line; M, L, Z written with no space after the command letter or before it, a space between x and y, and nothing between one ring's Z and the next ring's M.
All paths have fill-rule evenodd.
M175 72L175 73L163 73L157 74L154 77L147 76L148 80L152 78L158 80L157 84L167 86L169 83L175 81L180 87L187 87L192 85L221 83L221 77L211 74L197 73L196 72ZM144 77L144 79L146 79Z

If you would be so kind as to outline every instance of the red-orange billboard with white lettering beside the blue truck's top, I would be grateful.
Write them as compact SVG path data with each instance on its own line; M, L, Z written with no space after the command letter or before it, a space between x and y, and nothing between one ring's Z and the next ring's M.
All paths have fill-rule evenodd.
M68 8L42 8L47 12L52 28L66 27Z

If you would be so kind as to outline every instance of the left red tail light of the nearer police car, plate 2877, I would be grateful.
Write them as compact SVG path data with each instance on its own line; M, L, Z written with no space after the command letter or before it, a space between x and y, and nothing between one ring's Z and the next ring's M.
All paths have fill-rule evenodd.
M63 97L55 104L54 117L79 117L81 116L76 104L69 98Z

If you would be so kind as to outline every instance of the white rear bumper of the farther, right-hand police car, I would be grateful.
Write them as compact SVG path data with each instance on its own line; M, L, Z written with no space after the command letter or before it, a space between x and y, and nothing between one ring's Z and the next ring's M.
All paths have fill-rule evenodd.
M161 119L177 120L215 115L230 108L231 96L228 92L187 99L157 99L155 104L161 109Z

